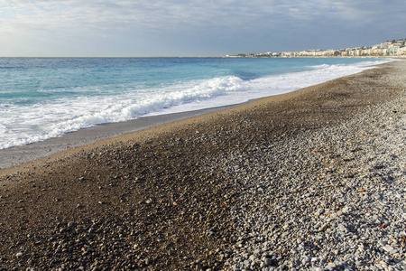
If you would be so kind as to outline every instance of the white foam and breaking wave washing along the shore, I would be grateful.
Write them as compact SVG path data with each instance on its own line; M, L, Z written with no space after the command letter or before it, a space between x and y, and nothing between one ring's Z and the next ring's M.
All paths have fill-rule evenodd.
M155 89L128 89L119 95L64 98L34 108L0 107L3 120L0 125L0 149L42 141L103 123L226 106L282 94L370 69L370 65L377 63L323 64L309 67L311 69L307 71L252 80L224 76L179 82Z

